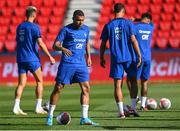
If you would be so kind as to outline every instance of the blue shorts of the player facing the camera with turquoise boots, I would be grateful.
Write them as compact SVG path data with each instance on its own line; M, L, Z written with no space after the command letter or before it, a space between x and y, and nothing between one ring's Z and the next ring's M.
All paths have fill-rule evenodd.
M87 66L60 64L56 76L57 84L72 84L89 81Z

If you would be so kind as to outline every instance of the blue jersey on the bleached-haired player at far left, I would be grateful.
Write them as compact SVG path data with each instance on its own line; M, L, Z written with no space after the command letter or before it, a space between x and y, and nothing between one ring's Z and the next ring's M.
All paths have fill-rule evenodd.
M41 31L37 24L23 22L16 29L16 53L17 62L40 61L38 55L37 39L41 37Z

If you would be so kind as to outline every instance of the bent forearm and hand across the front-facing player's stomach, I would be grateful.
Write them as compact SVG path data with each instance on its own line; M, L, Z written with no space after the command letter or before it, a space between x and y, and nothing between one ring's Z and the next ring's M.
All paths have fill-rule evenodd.
M55 41L53 44L53 49L55 51L62 51L66 56L71 56L72 52L62 46L60 41Z

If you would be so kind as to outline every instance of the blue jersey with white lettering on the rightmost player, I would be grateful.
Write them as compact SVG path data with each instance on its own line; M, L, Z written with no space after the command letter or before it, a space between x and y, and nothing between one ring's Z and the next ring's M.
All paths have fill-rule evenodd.
M139 43L142 61L151 60L151 39L154 31L152 23L138 22L135 24L136 39Z

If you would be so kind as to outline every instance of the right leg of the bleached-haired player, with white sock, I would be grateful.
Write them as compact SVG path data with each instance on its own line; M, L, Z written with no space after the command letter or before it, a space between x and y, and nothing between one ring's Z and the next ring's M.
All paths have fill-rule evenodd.
M43 97L43 74L41 67L38 67L36 71L33 72L33 76L36 80L36 107L35 112L37 114L46 114L47 112L42 108L42 97Z

